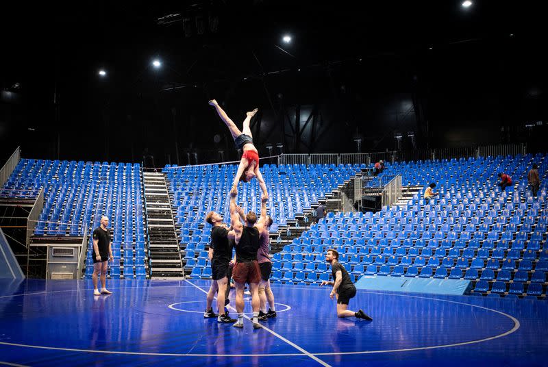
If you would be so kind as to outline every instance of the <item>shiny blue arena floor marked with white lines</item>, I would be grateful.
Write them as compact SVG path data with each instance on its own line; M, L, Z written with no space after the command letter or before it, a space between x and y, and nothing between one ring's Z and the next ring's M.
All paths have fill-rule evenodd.
M366 322L336 318L328 288L277 285L278 317L254 330L203 318L209 281L107 286L0 280L0 364L548 366L547 301L358 290Z

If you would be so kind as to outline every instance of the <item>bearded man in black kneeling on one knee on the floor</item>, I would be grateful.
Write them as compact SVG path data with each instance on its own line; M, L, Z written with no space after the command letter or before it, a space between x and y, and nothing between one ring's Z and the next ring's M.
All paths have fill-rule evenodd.
M327 250L325 261L331 264L333 279L335 279L335 281L322 281L320 286L325 286L326 284L333 286L329 298L333 299L333 296L336 296L337 298L337 316L356 316L357 318L363 318L368 321L373 320L373 318L367 316L361 309L358 310L358 312L353 312L348 309L350 299L353 298L353 296L356 296L356 287L352 283L343 264L338 262L338 252L333 249Z

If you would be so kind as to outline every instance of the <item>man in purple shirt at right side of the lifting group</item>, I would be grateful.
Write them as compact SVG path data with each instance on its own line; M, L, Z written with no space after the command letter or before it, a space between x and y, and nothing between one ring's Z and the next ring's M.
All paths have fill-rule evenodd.
M259 320L266 321L269 317L276 317L276 307L274 305L274 294L270 288L270 273L272 271L272 262L270 260L270 233L269 229L272 225L271 216L266 216L264 229L260 233L259 244L260 248L257 251L257 260L261 270L261 281L259 283L259 299L260 310ZM269 312L266 312L266 299L269 301Z

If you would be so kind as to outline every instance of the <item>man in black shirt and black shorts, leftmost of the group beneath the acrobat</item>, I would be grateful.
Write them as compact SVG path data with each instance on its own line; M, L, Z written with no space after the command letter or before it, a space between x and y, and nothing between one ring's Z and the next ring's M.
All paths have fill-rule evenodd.
M232 246L228 241L227 225L223 223L223 217L216 212L209 212L206 216L206 222L213 226L211 230L211 244L208 255L211 261L212 281L207 296L206 312L204 318L216 317L218 322L234 322L234 318L229 318L225 312L225 305L228 304L229 262L232 257ZM217 292L217 309L219 315L213 312L211 304Z

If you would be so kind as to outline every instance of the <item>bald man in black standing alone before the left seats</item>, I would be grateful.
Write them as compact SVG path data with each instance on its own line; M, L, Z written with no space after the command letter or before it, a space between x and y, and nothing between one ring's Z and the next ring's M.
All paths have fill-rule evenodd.
M110 232L107 229L108 218L101 217L101 225L93 231L93 294L112 294L106 288L108 260L112 262L112 246L110 242ZM101 292L97 289L97 275L101 274Z

